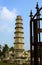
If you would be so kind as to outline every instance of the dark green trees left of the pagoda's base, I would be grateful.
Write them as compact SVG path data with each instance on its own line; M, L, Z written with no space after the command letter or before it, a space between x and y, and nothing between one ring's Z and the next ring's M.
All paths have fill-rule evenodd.
M14 47L9 48L7 44L4 46L0 45L0 58L2 59L8 56L9 51L14 53Z

